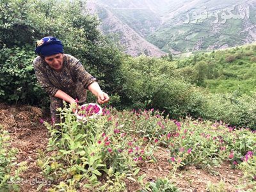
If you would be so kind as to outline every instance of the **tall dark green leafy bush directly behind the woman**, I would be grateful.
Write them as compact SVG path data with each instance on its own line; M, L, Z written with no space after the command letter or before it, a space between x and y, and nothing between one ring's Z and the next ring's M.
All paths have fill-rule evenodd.
M1 100L41 103L45 95L38 91L31 61L36 40L44 36L60 38L65 53L77 57L106 92L118 92L122 54L100 34L85 1L3 0L0 12Z

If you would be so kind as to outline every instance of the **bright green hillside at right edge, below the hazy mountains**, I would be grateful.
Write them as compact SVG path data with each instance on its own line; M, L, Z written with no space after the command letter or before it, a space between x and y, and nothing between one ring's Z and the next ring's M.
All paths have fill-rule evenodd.
M194 52L189 57L175 60L181 71L194 68L197 78L201 79L194 79L193 82L197 81L212 93L250 95L256 91L255 50L256 45L249 44L219 51Z

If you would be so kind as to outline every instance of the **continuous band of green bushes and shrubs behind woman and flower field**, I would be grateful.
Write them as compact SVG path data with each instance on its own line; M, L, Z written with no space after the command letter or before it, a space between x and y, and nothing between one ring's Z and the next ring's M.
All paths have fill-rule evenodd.
M100 35L95 17L81 12L81 1L4 0L0 6L4 102L47 106L31 61L35 41L53 35L63 40L65 52L79 58L106 92L115 95L112 104L118 109L155 108L177 119L189 115L256 127L255 45L198 52L183 59L131 58Z

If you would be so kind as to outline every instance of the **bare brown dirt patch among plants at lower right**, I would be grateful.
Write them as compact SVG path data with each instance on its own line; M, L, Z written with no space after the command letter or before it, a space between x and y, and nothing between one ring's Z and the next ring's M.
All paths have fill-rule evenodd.
M154 152L157 163L143 162L140 164L141 175L146 174L144 182L155 182L157 179L170 179L180 191L201 192L207 191L207 186L212 184L217 186L220 182L224 183L225 191L237 191L236 187L239 178L243 176L241 170L234 170L230 167L229 162L222 163L219 167L211 169L198 169L195 166L186 166L182 170L177 170L175 177L172 175L172 166L168 161L170 154L168 150L159 147ZM132 187L139 189L138 187Z

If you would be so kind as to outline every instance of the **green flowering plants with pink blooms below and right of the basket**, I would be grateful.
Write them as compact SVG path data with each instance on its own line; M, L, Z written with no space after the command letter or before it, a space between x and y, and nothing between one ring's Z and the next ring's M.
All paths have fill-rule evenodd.
M242 189L256 189L256 135L249 129L191 118L179 122L154 109L104 108L102 116L85 123L77 122L67 106L61 115L65 122L58 129L44 122L51 136L47 153L37 161L45 179L53 183L49 191L125 191L128 180L141 192L179 191L179 170L194 165L214 172L224 161L244 172L236 188L245 184ZM141 166L156 163L154 152L159 148L170 156L170 174L143 182L147 175L140 172ZM218 188L209 186L211 191ZM225 185L221 188L225 191Z

